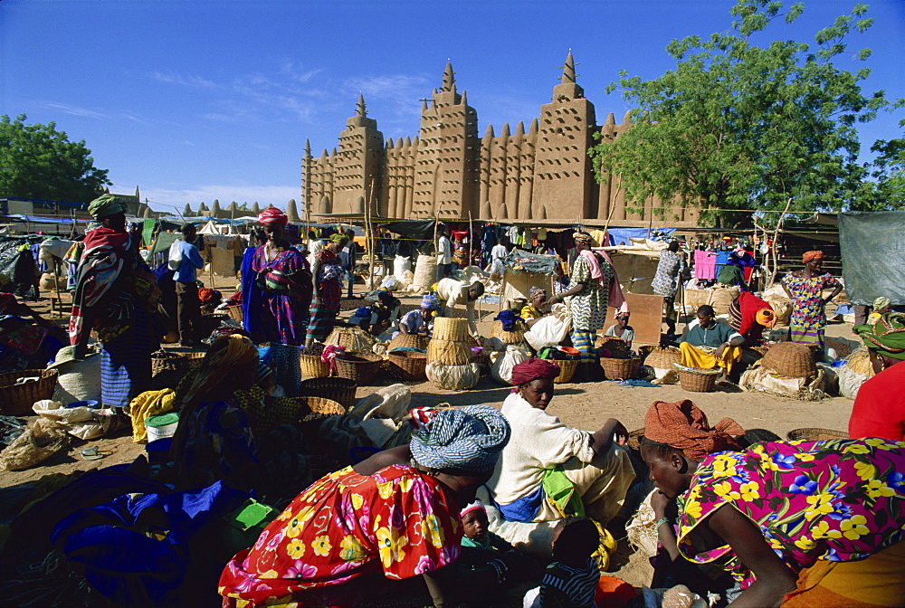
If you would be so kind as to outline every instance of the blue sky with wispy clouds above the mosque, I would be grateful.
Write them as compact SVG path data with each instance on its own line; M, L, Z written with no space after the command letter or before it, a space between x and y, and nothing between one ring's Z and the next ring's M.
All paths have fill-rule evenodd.
M598 123L611 111L618 122L630 108L605 94L618 71L661 75L674 65L667 43L728 29L733 4L4 0L0 114L84 139L113 192L138 185L155 209L214 198L283 207L300 199L305 139L315 156L337 146L359 91L385 138L414 137L449 59L480 134L499 133L538 116L572 49ZM864 89L905 97L905 2L868 4L876 23L848 41L872 49ZM810 42L853 5L808 0L770 37ZM863 150L899 137L902 116L862 127Z

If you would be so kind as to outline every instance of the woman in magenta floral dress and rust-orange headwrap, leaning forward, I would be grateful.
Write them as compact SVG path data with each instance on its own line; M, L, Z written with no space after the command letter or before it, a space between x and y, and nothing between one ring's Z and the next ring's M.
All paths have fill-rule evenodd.
M719 433L690 439L674 418L645 427L641 453L654 486L678 501L681 556L720 565L738 581L730 605L902 605L905 443L721 451L731 446Z

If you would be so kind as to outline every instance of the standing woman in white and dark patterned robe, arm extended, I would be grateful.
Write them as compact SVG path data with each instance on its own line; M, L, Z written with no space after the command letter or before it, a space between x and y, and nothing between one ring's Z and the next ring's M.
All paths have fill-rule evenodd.
M575 233L574 238L578 256L572 264L569 287L547 302L552 306L572 297L569 302L569 309L572 311L572 344L581 356L578 379L588 380L595 360L595 337L604 327L607 304L620 312L628 312L628 304L609 257L605 253L591 251L596 242L590 234Z

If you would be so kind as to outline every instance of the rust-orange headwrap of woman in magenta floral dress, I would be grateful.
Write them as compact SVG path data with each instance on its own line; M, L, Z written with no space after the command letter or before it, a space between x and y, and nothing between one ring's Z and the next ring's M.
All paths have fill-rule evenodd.
M731 418L723 418L710 428L707 416L688 399L675 404L654 402L644 416L644 437L681 450L696 462L716 451L738 450L738 442L731 435L744 433Z

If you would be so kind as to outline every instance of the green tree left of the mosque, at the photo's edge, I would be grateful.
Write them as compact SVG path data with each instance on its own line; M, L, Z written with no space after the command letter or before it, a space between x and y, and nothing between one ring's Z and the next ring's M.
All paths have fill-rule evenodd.
M25 119L0 117L0 197L88 203L112 184L83 139L72 142L53 122L26 125Z

